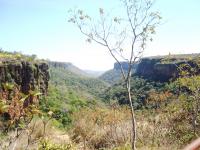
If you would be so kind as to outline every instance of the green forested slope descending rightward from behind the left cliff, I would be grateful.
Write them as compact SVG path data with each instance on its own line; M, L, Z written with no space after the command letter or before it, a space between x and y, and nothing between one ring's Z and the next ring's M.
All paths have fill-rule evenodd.
M101 94L107 89L108 84L86 76L72 64L66 65L62 62L49 62L49 64L49 92L42 109L46 112L52 110L58 116L61 115L62 117L57 117L57 120L61 126L66 127L71 122L72 112L101 103ZM48 107L44 108L46 105Z

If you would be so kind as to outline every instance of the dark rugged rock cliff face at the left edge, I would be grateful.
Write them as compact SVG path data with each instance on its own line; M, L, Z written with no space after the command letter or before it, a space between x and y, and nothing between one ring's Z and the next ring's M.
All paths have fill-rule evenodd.
M46 94L49 71L45 62L29 62L25 60L0 61L0 86L2 83L16 83L23 93L29 90L40 90Z

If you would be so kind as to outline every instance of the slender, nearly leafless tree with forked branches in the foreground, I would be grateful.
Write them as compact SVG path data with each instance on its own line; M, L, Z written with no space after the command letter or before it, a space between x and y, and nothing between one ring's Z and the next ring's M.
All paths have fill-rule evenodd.
M133 65L143 55L148 41L152 41L155 28L160 23L159 12L153 12L151 0L121 0L118 16L99 8L99 16L92 18L82 10L70 10L69 22L73 23L87 37L88 42L96 42L105 47L120 66L122 79L126 85L127 97L132 115L132 149L136 149L136 119L131 96L131 76ZM128 63L128 71L122 65Z

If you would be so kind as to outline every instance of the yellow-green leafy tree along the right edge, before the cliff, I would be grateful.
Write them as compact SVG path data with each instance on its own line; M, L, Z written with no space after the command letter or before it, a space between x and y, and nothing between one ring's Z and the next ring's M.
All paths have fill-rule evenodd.
M199 57L184 58L183 63L175 64L178 71L178 78L171 83L173 92L177 94L176 100L169 107L173 114L170 117L172 126L171 133L178 140L185 144L197 137L200 133L200 76Z

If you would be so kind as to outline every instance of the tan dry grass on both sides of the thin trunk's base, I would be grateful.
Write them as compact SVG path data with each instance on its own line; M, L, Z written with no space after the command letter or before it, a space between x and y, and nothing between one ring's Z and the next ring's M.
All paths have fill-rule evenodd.
M177 149L167 140L166 120L150 113L137 112L138 149ZM132 125L128 108L83 109L74 118L71 139L80 149L130 149Z

